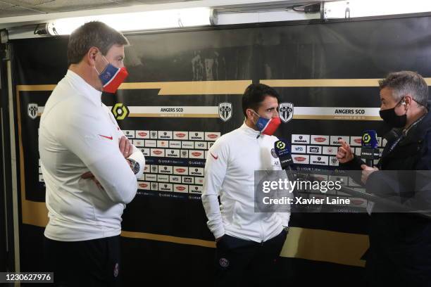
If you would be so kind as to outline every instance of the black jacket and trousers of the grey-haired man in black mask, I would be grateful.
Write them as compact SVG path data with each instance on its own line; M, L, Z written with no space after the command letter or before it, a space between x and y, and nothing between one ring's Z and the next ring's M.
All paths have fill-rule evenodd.
M423 120L390 151L401 134L401 129L393 129L385 136L380 171L370 174L366 190L411 210L431 210L430 104ZM361 170L362 164L356 156L340 167ZM376 204L370 218L366 267L371 286L431 286L431 219L382 211Z

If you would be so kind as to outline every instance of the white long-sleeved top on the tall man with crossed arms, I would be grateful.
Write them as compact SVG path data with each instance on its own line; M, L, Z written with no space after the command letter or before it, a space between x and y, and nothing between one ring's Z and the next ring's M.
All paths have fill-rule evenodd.
M46 184L49 223L45 236L57 241L85 241L116 236L121 215L135 197L145 159L135 175L118 148L123 132L101 102L101 91L68 70L52 92L39 125L39 155ZM82 179L92 172L101 183Z

